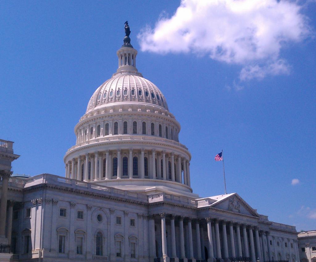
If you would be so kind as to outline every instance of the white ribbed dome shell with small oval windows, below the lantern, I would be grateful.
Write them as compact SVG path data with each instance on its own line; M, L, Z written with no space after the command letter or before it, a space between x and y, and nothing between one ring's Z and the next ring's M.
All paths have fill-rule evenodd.
M152 82L134 74L122 74L104 82L90 98L87 111L119 102L143 102L168 110L165 97Z

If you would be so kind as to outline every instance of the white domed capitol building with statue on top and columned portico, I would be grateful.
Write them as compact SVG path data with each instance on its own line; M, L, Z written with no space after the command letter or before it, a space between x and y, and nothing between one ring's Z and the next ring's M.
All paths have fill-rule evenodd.
M300 261L294 226L237 193L192 192L180 124L125 33L117 71L75 126L65 177L11 176L19 155L0 140L0 261Z

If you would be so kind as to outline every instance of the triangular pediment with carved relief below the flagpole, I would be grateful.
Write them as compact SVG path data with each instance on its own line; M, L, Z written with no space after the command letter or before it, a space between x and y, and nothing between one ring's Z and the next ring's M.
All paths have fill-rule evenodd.
M231 211L237 214L259 217L257 211L247 204L237 193L216 201L211 207Z

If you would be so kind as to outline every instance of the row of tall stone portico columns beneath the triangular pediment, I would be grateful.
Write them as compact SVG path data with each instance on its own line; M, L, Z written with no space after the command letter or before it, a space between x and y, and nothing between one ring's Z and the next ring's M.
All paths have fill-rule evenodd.
M204 245L207 246L209 261L272 261L272 252L268 245L268 232L259 230L257 226L240 224L226 220L192 219L190 217L175 216L173 214L159 213L161 219L161 250L162 258L172 258L173 261L181 259L203 260ZM149 248L150 256L156 257L155 243L155 216L149 216ZM166 219L170 222L171 252L167 249ZM176 245L175 220L179 224L179 244ZM207 243L204 242L204 225L207 228ZM195 235L192 235L192 229ZM228 230L227 230L228 229ZM184 231L186 231L184 233ZM229 234L228 234L229 232ZM169 234L169 233L168 233ZM169 235L168 235L169 237ZM194 243L194 245L193 245ZM229 246L228 246L229 243ZM266 245L267 244L267 245ZM194 247L194 248L193 248ZM268 250L267 250L268 247ZM177 250L179 249L179 250ZM267 256L267 253L269 254ZM179 257L177 257L177 254Z

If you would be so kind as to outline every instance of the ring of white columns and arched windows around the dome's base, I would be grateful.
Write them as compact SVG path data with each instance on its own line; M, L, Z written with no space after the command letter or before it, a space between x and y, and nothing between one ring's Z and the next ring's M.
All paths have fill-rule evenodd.
M81 181L150 178L190 186L190 162L181 155L156 149L106 150L72 158L66 163L65 177Z

